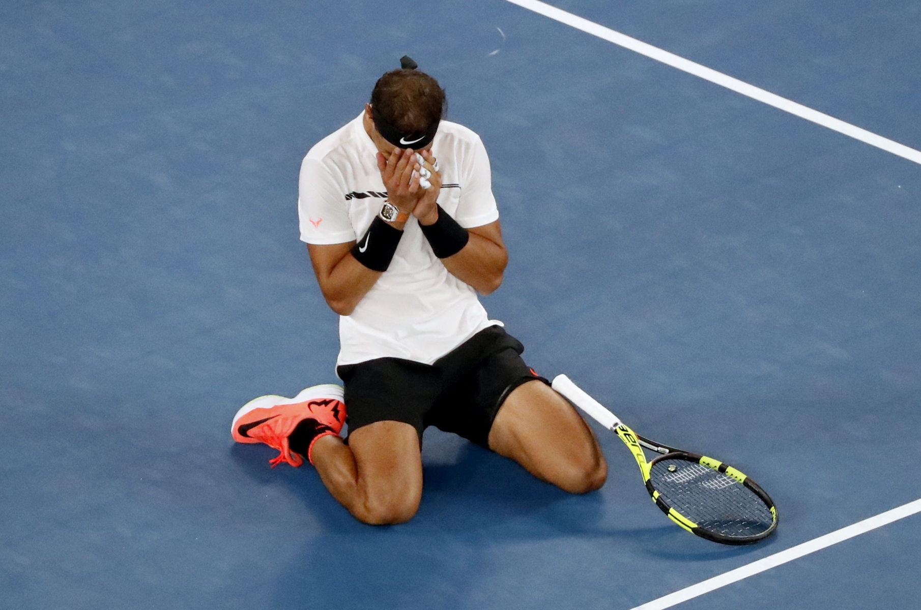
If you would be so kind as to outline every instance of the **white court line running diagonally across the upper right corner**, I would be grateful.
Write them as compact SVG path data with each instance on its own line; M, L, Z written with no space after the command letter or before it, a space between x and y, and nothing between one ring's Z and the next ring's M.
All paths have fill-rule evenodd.
M748 98L757 99L758 101L764 102L769 106L773 106L776 109L784 110L790 114L794 114L801 119L806 121L812 121L822 127L827 127L828 129L834 130L835 132L844 133L860 142L870 144L871 146L876 146L881 148L884 151L892 153L892 155L899 155L908 159L909 161L914 161L915 163L921 165L921 152L916 151L914 148L909 148L904 144L899 144L888 138L884 138L881 135L877 135L873 132L868 132L865 129L861 129L856 125L846 123L840 119L835 119L832 116L824 114L818 110L810 109L807 106L798 104L795 101L791 101L787 98L781 98L770 91L765 91L762 88L757 86L749 85L743 81L740 81L738 78L733 78L729 75L724 75L721 72L717 72L711 68L701 65L700 63L694 63L690 60L686 60L683 57L659 49L659 47L654 47L651 44L647 44L641 40L636 40L635 38L630 38L625 34L616 32L613 29L605 28L593 21L589 21L586 18L578 17L572 13L567 13L565 10L556 8L555 6L550 6L546 3L539 2L538 0L507 0L507 2L512 3L513 5L521 6L522 8L527 8L530 11L534 11L544 17L550 17L555 19L560 23L565 23L567 26L572 26L576 29L581 29L582 31L591 34L592 36L597 36L600 39L608 40L614 44L624 47L624 49L629 49L630 51L638 52L641 55L646 55L650 59L654 59L657 62L666 63L673 68L678 68L683 72L694 76L700 76L704 80L708 80L711 83L715 83L719 86L725 86L736 93L740 93L743 96Z

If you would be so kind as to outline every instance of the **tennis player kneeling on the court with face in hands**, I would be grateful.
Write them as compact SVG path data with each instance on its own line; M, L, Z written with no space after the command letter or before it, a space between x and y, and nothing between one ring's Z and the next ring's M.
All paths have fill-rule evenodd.
M589 426L477 298L499 287L507 264L484 145L443 120L435 78L407 57L402 66L300 170L300 237L340 315L344 390L256 398L239 409L233 438L279 450L273 466L306 456L367 524L415 514L427 426L566 491L599 489L607 464Z

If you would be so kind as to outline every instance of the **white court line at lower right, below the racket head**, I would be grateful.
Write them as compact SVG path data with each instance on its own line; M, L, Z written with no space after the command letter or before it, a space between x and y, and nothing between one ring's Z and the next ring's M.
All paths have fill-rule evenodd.
M738 582L749 576L760 574L765 570L776 568L779 565L787 563L787 561L793 561L794 559L799 559L810 553L822 550L822 548L831 547L848 538L853 538L856 535L866 534L870 530L875 530L877 527L882 527L883 525L891 524L893 521L904 519L905 517L915 514L915 512L921 512L921 499L903 504L898 508L892 509L892 511L881 512L875 517L858 521L856 524L842 527L840 530L835 530L831 534L813 538L796 547L790 547L785 551L780 551L774 555L752 561L752 563L746 564L741 568L729 570L725 574L720 574L706 581L698 582L681 591L669 593L664 597L659 597L659 599L654 599L646 604L637 605L631 608L631 610L664 610L665 608L670 608L673 605L681 604L689 599L694 599L694 597L698 597L704 593L710 593L711 591L725 587L733 582Z

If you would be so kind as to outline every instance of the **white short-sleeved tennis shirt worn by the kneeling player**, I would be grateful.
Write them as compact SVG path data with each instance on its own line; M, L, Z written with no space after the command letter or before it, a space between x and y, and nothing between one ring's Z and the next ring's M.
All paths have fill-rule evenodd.
M300 167L297 213L308 244L341 244L364 236L387 196L378 148L364 113L310 149ZM442 187L438 204L461 226L498 219L489 157L480 136L441 121L432 143ZM434 363L492 325L472 287L451 275L410 216L391 266L358 303L339 317L337 365L375 358Z

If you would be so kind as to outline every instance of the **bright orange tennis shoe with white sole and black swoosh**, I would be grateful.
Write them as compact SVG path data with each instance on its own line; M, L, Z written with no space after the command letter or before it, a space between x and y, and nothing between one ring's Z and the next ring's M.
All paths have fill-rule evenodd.
M344 422L342 386L324 384L305 388L293 398L269 395L252 399L237 411L230 435L237 443L265 443L277 449L278 456L269 461L273 468L282 462L300 466L304 458L291 449L292 433L297 429L296 449L313 464L313 444L323 436L338 434Z

